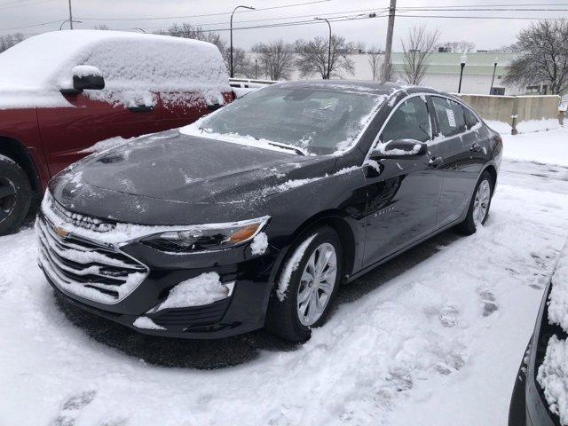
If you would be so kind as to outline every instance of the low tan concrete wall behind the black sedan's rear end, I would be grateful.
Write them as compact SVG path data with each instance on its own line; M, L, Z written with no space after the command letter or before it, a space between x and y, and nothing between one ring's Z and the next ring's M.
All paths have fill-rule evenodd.
M558 118L557 95L489 96L457 95L486 120L507 122L514 129L519 122Z

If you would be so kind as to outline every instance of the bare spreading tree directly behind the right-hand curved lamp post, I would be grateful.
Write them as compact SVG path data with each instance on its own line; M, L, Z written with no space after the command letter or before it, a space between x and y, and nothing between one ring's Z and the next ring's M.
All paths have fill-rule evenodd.
M324 37L314 37L312 40L296 41L296 66L300 70L300 75L321 75L327 78L327 49L328 39ZM331 37L331 59L329 75L341 78L341 73L345 72L353 75L355 68L353 59L349 57L352 44L345 42L341 36Z

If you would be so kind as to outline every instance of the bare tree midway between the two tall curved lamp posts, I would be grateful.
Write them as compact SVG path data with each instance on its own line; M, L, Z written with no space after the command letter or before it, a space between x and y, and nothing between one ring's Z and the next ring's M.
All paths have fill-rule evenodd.
M258 61L271 80L288 79L294 70L294 47L278 40L272 43L257 43L252 47Z

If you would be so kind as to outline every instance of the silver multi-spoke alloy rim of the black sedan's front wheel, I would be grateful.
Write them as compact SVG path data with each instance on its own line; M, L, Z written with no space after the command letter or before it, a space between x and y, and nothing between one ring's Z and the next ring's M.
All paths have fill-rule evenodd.
M320 244L305 264L297 294L300 322L310 327L321 318L335 288L337 255L328 242Z

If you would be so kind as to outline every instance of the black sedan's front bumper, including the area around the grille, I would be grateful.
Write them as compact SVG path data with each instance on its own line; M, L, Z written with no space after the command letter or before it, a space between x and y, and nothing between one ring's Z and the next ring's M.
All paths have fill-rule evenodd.
M91 275L87 278L82 275L83 271L80 269L92 267L92 263L77 266L73 262L68 264L68 259L64 256L58 256L66 255L66 250L69 248L76 249L82 241L75 239L73 235L61 238L59 241L56 234L47 234L50 231L49 226L53 225L40 211L36 225L40 237L38 241L39 264L51 286L69 304L146 335L211 339L239 335L264 327L272 282L274 282L277 265L281 260L280 251L271 246L262 256L253 256L248 244L218 252L187 255L164 253L138 241L116 248L116 253L106 248L110 252L108 256L112 257L112 263L115 263L116 258L126 259L128 257L138 265L143 265L146 270L143 280L136 283L136 286L132 286L125 296L119 294L100 299L90 296L92 288L89 290L91 293L87 294L82 294L81 291L78 292L75 289L80 280L87 280L87 282L78 282L84 287L90 287L92 284L94 287L106 289L105 278L94 277L94 280L90 282ZM93 242L96 241L86 241L86 247L91 248L89 244ZM56 247L59 248L59 253L57 251L53 253L55 248L48 247L50 244L56 246L59 244ZM96 247L91 249L99 250ZM100 250L101 253L103 251ZM103 257L100 259L101 261L106 260ZM63 270L64 275L55 273L58 271L54 272L54 264L62 268L67 267ZM68 267L72 267L73 270L68 272ZM99 269L96 272L108 273L108 267L105 266L103 269L105 271ZM115 269L111 272L114 277L118 278L113 280L122 279L120 270ZM207 272L217 272L222 283L234 283L232 294L210 304L169 308L154 312L154 308L168 297L171 288L182 281ZM65 282L68 275L73 279L72 284L75 288ZM140 318L151 319L151 324L153 323L156 327L147 327L147 324L141 327L142 323L137 322Z

